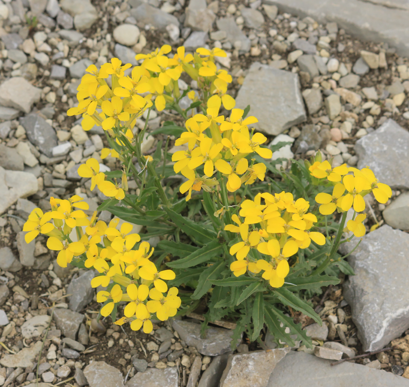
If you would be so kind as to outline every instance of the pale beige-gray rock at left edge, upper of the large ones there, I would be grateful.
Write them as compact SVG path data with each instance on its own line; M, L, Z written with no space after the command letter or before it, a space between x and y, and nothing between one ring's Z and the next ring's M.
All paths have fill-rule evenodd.
M25 78L13 77L0 85L0 105L14 107L25 113L40 100L41 89L34 87Z

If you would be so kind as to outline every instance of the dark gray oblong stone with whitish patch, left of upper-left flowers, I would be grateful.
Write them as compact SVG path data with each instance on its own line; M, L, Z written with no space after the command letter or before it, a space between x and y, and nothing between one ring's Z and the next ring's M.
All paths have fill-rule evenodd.
M57 145L57 135L54 128L36 113L20 118L20 123L26 130L31 144L37 145L47 157L52 157L52 149Z

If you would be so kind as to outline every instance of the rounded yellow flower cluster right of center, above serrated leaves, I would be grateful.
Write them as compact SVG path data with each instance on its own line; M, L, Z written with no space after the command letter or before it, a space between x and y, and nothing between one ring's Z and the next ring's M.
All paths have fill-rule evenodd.
M254 277L263 271L261 277L272 287L283 286L290 270L288 258L298 249L307 248L311 240L317 245L325 244L323 234L310 231L317 217L308 212L309 207L305 199L294 201L292 194L284 191L275 195L258 193L254 200L244 200L240 217L231 217L237 225L225 226L225 230L238 233L241 239L229 251L236 255L230 265L233 274L240 276L248 271Z

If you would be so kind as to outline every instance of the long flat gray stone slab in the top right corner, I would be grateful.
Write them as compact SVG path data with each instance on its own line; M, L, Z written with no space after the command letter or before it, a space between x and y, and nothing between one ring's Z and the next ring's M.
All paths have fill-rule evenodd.
M269 4L318 22L336 22L362 40L387 42L400 55L409 55L407 0L269 0Z

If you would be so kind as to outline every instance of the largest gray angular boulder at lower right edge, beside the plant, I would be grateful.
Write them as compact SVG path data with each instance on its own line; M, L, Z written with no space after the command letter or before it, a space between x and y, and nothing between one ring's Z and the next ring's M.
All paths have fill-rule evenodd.
M357 238L342 245L348 254ZM409 235L383 225L362 237L348 257L355 271L344 285L364 351L376 351L409 328ZM409 382L408 382L409 383Z

